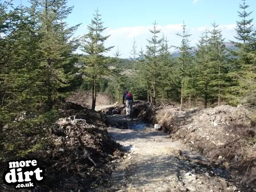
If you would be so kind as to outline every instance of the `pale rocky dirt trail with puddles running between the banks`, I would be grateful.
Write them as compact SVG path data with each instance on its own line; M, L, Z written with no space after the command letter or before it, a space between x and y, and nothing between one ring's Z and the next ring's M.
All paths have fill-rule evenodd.
M122 115L108 116L108 120L112 125L108 132L127 153L119 160L113 157L111 178L94 192L243 191L229 182L227 170L201 164L204 157L172 142L152 125L125 120ZM114 128L122 127L121 123L129 129Z

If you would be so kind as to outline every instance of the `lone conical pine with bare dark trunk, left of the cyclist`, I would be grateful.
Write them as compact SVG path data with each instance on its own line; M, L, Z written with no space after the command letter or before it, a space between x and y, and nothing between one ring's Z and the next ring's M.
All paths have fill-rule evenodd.
M109 60L103 56L103 53L111 50L114 46L104 46L104 42L110 35L102 36L107 28L103 27L98 9L93 16L91 24L87 25L88 33L82 37L81 44L82 51L88 54L88 57L85 57L85 66L82 68L82 72L85 79L92 83L92 110L95 110L97 80L110 75L110 70L107 67Z

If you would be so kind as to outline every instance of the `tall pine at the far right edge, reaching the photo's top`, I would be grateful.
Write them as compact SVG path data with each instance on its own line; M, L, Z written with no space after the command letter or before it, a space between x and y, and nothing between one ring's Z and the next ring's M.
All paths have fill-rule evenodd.
M247 12L249 5L240 4L239 8L242 12L239 13L241 21L237 22L237 36L238 42L233 42L237 46L237 50L233 52L237 56L232 63L234 72L231 75L237 80L238 86L234 86L231 90L233 95L232 103L239 104L256 104L255 90L256 90L256 65L255 65L255 50L254 50L254 35L253 35L253 19L250 19L252 12Z

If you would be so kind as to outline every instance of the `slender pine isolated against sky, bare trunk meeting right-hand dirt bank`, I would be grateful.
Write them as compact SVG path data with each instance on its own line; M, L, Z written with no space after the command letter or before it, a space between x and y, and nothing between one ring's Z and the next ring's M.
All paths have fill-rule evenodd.
M183 21L183 35L180 35L179 33L177 33L176 35L181 37L181 45L180 47L174 46L176 47L176 49L179 49L180 52L180 57L179 57L179 70L180 70L180 82L181 82L181 93L180 93L180 110L183 109L183 92L184 92L184 80L186 79L186 77L188 77L188 70L191 67L192 64L192 56L190 51L192 50L193 47L190 47L189 43L189 37L191 35L186 34L186 25Z

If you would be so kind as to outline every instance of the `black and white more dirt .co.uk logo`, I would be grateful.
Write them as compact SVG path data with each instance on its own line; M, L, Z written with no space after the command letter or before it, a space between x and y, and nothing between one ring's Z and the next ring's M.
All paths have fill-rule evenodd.
M8 170L3 173L3 182L15 189L34 188L35 182L44 181L45 170L35 159L16 160L8 162Z

